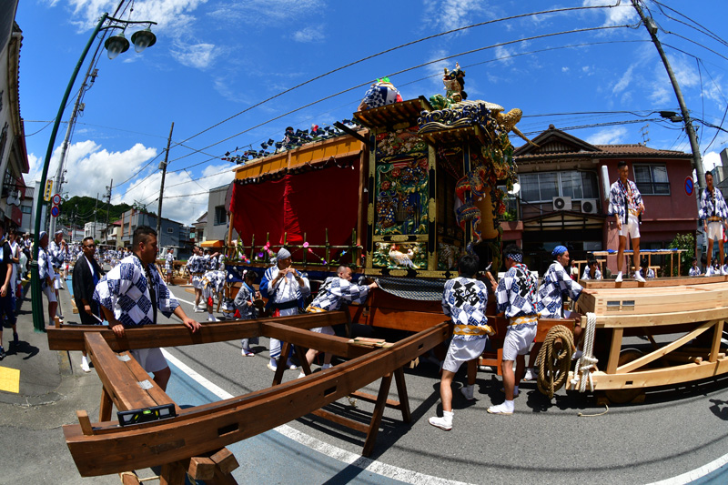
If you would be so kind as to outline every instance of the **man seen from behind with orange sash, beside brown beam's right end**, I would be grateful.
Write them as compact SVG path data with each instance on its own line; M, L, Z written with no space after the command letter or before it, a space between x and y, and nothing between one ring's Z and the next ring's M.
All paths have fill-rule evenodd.
M493 335L485 317L488 287L475 278L478 258L465 255L458 261L458 278L449 279L442 293L442 312L454 324L452 340L442 363L440 400L442 418L433 416L430 424L440 429L452 429L452 379L463 362L478 359L485 350L486 338ZM465 399L473 398L473 386L461 389Z

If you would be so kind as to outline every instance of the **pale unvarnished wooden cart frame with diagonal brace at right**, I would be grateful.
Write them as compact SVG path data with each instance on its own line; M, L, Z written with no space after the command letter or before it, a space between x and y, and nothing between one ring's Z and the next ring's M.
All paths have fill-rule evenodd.
M591 373L595 391L631 390L637 395L643 389L728 372L722 342L728 277L583 283L577 310L595 314L597 343L602 344L596 351L599 370ZM624 343L625 337L635 336L647 338L650 349L635 350ZM657 343L654 336L670 341Z

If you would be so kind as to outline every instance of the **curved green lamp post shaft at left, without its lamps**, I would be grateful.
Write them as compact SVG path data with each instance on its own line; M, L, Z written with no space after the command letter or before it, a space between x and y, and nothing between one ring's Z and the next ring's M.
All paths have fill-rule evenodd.
M86 59L86 54L88 54L88 49L91 48L91 45L94 43L94 39L96 39L96 35L98 35L98 32L101 30L101 25L104 25L104 22L106 22L106 18L108 17L108 14L104 14L101 16L101 20L98 21L98 25L96 25L96 29L94 29L94 33L91 35L91 38L88 39L88 44L86 44L86 48L84 49L83 54L81 54L81 57L78 59L78 62L76 63L76 68L74 69L74 73L71 75L71 80L68 81L68 86L66 86L66 94L63 96L63 100L61 101L61 106L58 106L58 114L56 115L56 122L53 124L53 131L51 131L51 139L48 140L48 149L45 152L45 161L43 163L43 173L40 178L40 189L45 190L45 177L48 175L48 167L51 163L51 155L53 154L53 146L56 144L56 135L58 134L58 126L61 123L61 116L63 116L63 112L66 108L66 103L68 102L68 96L71 95L71 89L73 89L74 83L76 83L76 76L78 76L78 71L81 69L81 66L84 64L84 60ZM35 197L37 199L35 203L35 232L33 234L33 262L30 263L30 288L31 288L31 304L33 306L33 327L35 328L36 332L44 332L45 331L45 318L43 316L44 309L43 309L43 293L40 289L40 273L38 271L38 248L39 248L39 240L38 235L40 234L40 218L41 218L41 210L43 208L44 200L42 194L35 194ZM50 237L50 236L49 236Z

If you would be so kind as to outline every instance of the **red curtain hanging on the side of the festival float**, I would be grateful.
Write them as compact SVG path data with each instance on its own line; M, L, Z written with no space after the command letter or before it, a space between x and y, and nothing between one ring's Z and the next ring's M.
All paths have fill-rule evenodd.
M327 167L260 184L236 183L230 210L233 227L243 244L265 244L266 233L273 245L283 243L284 233L292 244L348 245L351 230L357 226L359 209L359 164Z

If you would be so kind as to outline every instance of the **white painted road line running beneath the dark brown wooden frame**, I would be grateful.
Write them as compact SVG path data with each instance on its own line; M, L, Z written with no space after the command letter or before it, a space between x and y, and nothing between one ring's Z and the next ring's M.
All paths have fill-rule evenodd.
M197 384L215 394L218 398L235 398L235 396L227 392L227 390L220 388L213 382L210 382L206 378L202 377L194 369L190 369L187 364L177 359L166 349L162 349L162 353L164 354L165 358L172 363L172 365L187 374L187 376L197 382ZM399 480L405 483L410 483L412 485L468 485L466 482L463 481L441 479L440 477L433 477L431 475L425 475L424 473L419 473L417 471L406 470L395 467L394 465L388 465L377 460L369 460L368 458L362 457L355 453L351 453L347 450L342 450L339 447L330 445L329 443L325 443L324 441L309 436L306 433L302 433L298 431L298 429L293 429L287 424L278 426L278 428L274 428L274 430L278 431L286 438L294 440L311 450L318 451L319 453L339 460L343 463L346 463L347 465L351 465L362 470L367 470L372 473L377 473L392 480Z

